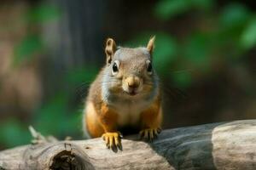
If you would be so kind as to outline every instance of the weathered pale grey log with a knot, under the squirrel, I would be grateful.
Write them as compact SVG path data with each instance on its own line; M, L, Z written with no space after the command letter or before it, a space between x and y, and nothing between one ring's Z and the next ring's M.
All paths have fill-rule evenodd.
M165 130L153 144L102 139L20 146L0 152L0 169L256 169L256 120Z

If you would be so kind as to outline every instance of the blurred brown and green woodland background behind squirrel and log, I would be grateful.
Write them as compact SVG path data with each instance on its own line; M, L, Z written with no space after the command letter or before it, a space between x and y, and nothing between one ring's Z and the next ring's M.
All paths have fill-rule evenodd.
M28 144L29 125L83 139L106 38L136 47L153 35L165 128L256 117L253 1L2 0L0 150Z

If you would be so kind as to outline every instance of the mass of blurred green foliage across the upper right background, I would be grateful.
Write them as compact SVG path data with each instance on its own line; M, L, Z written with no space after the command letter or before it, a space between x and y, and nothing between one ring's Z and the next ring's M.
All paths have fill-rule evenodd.
M166 31L157 31L156 34L155 66L160 75L172 79L178 88L189 88L195 76L213 71L214 62L231 65L233 60L256 45L255 14L243 3L233 2L217 8L213 0L160 0L153 8L155 16L166 22L177 15L192 14L194 11L200 12L200 20L194 22L202 22L202 27L191 29L185 38L175 37ZM219 11L218 14L216 11ZM212 27L206 26L209 25L209 18ZM145 37L153 35L152 32L141 32L132 41L141 42L143 39L146 42Z

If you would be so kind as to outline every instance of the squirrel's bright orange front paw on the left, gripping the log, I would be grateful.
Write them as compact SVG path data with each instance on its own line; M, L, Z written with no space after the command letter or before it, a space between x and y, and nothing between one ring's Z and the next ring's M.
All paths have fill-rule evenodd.
M105 140L108 149L114 147L121 147L121 138L122 135L119 132L116 133L104 133L102 134L102 139Z

